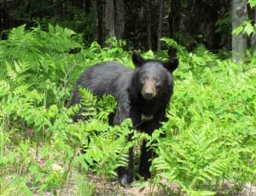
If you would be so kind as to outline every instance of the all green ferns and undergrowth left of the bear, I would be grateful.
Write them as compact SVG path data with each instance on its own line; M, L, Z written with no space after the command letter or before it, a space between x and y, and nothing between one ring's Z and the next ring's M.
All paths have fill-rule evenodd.
M60 26L49 25L49 32L39 27L26 32L25 26L20 26L8 40L1 41L0 181L5 182L0 186L1 194L14 189L21 195L57 194L78 165L107 179L126 163L131 144L126 144L125 135L131 122L108 126L107 117L115 101L110 106L111 98L96 101L84 91L85 100L96 101L97 109L90 120L76 124L71 117L78 106L66 108L78 70L84 69L82 60L85 58L88 65L94 61L87 52L91 49L93 55L107 54L107 49L98 49L96 43L82 49L74 36L73 31ZM73 49L82 51L74 55ZM110 57L102 56L102 61L104 58ZM87 152L81 154L81 147ZM19 181L11 181L12 176Z

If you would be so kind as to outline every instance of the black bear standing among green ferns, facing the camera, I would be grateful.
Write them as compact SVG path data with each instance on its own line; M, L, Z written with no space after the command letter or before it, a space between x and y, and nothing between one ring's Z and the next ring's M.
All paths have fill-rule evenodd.
M151 135L166 121L166 107L173 92L172 72L178 66L178 60L170 61L143 59L136 51L132 54L136 69L130 69L119 62L107 61L86 69L75 84L72 105L80 102L79 86L90 89L94 95L113 95L118 101L110 124L120 124L125 118L131 118L133 127ZM131 140L131 137L130 137ZM138 173L145 179L150 177L149 159L152 151L143 141ZM133 152L129 152L129 164L119 168L119 182L129 186L133 180Z

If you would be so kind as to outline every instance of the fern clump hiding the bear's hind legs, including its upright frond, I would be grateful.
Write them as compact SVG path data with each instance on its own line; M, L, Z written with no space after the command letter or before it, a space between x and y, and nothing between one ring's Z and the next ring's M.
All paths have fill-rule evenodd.
M90 164L100 176L116 176L115 170L127 164L131 143L126 142L126 137L130 134L131 121L127 120L120 126L109 126L108 115L116 106L113 97L103 95L97 100L90 90L83 88L79 88L79 94L82 115L86 117L84 134L88 134L90 142L82 144L85 163L80 158L76 162L84 165L85 170L88 170L87 164Z

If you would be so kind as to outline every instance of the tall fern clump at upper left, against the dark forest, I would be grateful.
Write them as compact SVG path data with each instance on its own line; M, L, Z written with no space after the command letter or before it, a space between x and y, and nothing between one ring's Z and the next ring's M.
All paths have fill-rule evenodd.
M5 59L0 60L0 64L7 62L13 71L3 70L3 76L5 72L13 74L13 77L14 71L26 73L32 87L44 83L46 79L61 81L73 64L68 53L82 46L74 39L75 36L75 32L61 26L49 25L49 32L42 31L40 26L30 32L26 32L25 25L14 28L9 39L0 46L5 51ZM17 69L19 67L20 70Z

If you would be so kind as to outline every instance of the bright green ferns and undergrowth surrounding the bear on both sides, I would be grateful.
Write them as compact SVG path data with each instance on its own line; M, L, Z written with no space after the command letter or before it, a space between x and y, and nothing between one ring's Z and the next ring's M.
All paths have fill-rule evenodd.
M188 53L172 39L162 41L177 49L180 60L169 121L152 137L136 132L126 142L134 131L129 119L108 126L116 104L112 97L97 100L80 89L86 120L77 123L72 116L79 107L67 107L85 67L108 60L132 67L131 51L122 49L125 42L112 39L110 48L97 43L84 48L79 35L61 26L49 25L48 32L13 29L0 43L0 194L73 190L94 195L96 186L86 176L115 179L128 148L143 138L158 154L151 182L166 195L174 194L173 182L178 193L189 195L230 193L255 184L255 57L236 65L203 47ZM168 58L163 50L143 56ZM162 131L166 138L159 137ZM225 189L226 182L233 186Z

